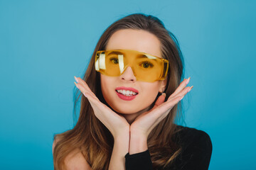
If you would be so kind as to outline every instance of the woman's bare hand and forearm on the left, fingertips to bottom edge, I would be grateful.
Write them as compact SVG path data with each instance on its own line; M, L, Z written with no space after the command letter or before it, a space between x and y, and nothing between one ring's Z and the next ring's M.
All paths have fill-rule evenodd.
M103 104L95 94L90 90L89 86L80 78L75 80L75 86L80 89L82 94L90 102L95 116L107 127L114 137L114 147L110 159L109 169L125 169L124 156L129 152L129 123L127 120L117 113L114 113L109 107Z

